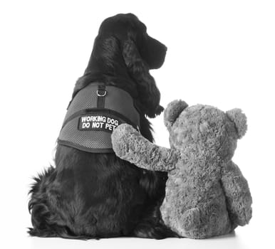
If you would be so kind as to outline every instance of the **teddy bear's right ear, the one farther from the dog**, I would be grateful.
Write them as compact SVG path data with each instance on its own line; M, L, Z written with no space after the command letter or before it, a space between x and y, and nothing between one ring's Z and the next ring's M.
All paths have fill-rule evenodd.
M229 120L234 122L238 138L242 138L245 132L247 132L247 116L239 108L229 110L226 114L227 117L229 117Z

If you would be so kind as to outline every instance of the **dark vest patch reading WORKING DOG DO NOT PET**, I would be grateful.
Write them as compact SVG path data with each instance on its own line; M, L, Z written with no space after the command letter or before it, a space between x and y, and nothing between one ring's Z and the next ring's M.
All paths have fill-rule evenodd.
M83 115L79 117L78 129L113 132L119 124L120 120L108 115Z

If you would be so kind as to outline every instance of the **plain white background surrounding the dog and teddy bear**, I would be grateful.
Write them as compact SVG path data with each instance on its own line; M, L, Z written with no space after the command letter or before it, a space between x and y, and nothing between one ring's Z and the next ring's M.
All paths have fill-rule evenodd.
M133 12L168 47L152 70L161 103L240 107L249 129L234 161L249 181L253 218L209 240L30 238L31 176L51 163L73 86L104 18ZM274 1L1 1L1 248L275 248ZM162 115L156 143L169 147Z

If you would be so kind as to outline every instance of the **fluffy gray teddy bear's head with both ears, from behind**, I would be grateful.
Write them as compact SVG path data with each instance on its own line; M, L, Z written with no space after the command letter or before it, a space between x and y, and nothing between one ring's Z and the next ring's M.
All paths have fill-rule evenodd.
M233 157L237 139L247 131L247 117L240 109L222 112L209 105L188 107L182 100L170 102L164 113L170 146L180 150Z

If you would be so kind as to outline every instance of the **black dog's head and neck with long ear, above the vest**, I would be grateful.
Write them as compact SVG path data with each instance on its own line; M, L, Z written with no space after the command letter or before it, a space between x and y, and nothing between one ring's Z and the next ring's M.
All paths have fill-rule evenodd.
M135 83L141 111L155 117L163 108L149 70L161 67L166 51L165 45L148 36L146 26L135 15L118 14L101 23L85 75L130 78ZM81 85L77 83L74 95Z

